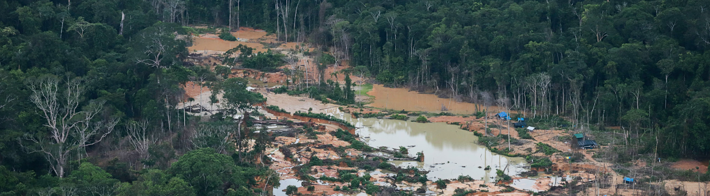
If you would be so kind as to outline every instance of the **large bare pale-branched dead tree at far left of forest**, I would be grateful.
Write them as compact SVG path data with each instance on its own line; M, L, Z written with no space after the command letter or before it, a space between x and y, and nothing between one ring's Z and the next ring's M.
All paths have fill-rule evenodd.
M43 153L51 170L64 178L72 151L99 143L113 130L111 127L107 133L89 142L89 138L99 134L98 130L89 128L89 124L101 111L103 102L89 102L85 111L80 110L84 88L79 79L71 80L62 87L57 77L43 76L31 80L28 87L33 92L31 102L40 109L40 116L47 121L44 126L50 130L47 136L24 136L35 145L25 146L22 142L21 145L28 153Z

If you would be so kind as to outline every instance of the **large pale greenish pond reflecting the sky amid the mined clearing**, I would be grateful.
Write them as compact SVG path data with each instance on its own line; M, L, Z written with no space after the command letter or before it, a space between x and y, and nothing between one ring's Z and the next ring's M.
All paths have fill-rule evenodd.
M478 137L458 126L445 123L417 123L394 119L352 119L338 109L329 109L340 119L357 127L356 134L369 146L409 148L411 156L424 152L424 162L392 161L400 166L414 166L428 170L430 180L455 179L459 175L469 175L474 180L491 182L496 177L496 169L505 170L508 175L525 172L524 158L510 158L491 153L485 146L479 146ZM484 170L491 166L491 170Z

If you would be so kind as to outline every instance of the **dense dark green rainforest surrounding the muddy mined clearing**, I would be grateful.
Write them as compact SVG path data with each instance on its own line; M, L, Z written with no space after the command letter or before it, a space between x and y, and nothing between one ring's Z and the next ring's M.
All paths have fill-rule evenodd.
M183 65L188 25L261 28L364 66L386 85L566 116L580 129L621 126L640 153L708 157L709 8L707 0L0 0L0 192L256 192L250 179L267 170L222 154L224 145L185 140L187 127L214 135L229 124L198 124L175 109L185 102L179 85L205 72ZM261 99L229 86L239 100ZM124 148L138 153L113 159ZM150 169L131 174L142 168ZM230 173L191 178L214 170Z

